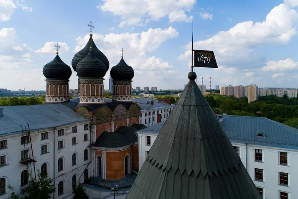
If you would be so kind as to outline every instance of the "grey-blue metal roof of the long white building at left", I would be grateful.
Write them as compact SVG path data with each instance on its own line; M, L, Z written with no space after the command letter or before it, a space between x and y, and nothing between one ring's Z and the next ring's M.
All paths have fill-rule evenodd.
M30 130L42 130L67 124L90 122L62 104L3 106L0 117L0 136L21 132L21 125L29 123Z

